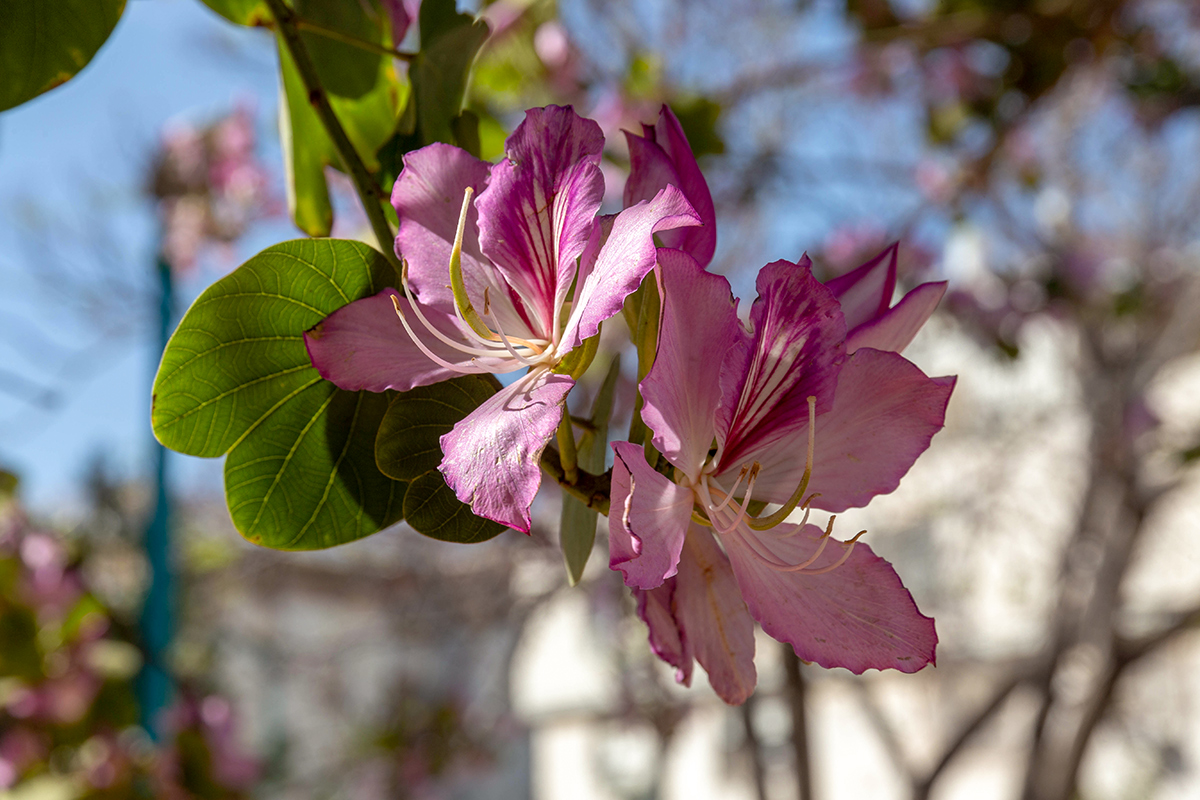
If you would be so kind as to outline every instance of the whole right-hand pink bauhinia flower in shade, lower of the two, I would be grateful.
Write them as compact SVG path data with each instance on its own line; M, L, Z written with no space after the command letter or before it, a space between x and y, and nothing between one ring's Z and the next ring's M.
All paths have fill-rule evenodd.
M611 565L635 590L654 651L683 682L700 661L728 703L754 691L754 620L824 667L932 662L934 621L887 561L857 536L834 540L832 519L823 531L808 513L785 521L893 491L942 427L954 379L846 337L850 317L874 342L906 343L907 297L893 313L886 269L856 293L878 264L826 287L806 258L775 261L758 273L746 332L725 278L680 251L659 260L662 329L641 389L666 463L616 443L608 516ZM768 503L781 507L761 515Z

